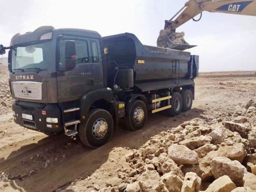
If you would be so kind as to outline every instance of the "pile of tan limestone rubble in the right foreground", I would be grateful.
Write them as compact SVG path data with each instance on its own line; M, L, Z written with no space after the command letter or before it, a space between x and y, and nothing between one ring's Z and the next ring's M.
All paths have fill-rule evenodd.
M256 192L256 101L238 106L151 137L126 156L118 184L100 191Z

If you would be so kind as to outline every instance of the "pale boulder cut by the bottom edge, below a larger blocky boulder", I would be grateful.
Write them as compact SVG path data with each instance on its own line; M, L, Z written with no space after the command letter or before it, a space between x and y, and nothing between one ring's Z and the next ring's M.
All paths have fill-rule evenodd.
M204 192L231 192L233 189L236 189L236 185L227 175L223 175L214 180Z

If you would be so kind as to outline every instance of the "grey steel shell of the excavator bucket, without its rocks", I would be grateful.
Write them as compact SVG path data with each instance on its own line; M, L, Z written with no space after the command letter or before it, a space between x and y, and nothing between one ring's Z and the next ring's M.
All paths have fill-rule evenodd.
M166 34L166 31L161 30L160 35L158 36L158 39L157 39L157 46L183 51L183 50L195 47L196 45L189 45L186 41L183 43L174 43L173 41L171 41L169 36Z

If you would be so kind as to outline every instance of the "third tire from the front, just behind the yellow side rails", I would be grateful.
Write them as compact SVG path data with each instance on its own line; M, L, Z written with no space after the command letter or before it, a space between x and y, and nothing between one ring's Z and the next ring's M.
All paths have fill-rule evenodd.
M182 97L178 92L173 92L171 94L171 108L167 109L167 114L169 116L176 116L180 114L182 109Z

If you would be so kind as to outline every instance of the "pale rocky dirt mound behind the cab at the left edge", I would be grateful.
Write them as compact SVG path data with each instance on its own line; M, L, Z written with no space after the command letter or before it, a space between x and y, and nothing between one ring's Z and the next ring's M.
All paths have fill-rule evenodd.
M5 65L0 65L0 115L12 111L12 95L9 88L9 71Z

